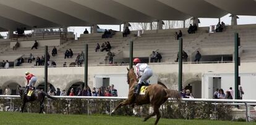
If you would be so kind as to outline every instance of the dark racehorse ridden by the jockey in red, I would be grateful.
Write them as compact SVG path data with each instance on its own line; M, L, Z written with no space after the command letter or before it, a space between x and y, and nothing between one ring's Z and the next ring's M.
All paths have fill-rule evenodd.
M55 97L51 97L51 95L47 94L44 91L41 91L40 89L28 91L28 94L30 94L30 95L28 95L28 94L24 95L24 91L25 91L25 87L19 88L20 98L22 99L22 109L21 109L22 113L24 111L25 104L27 102L33 102L35 100L40 102L40 112L39 113L42 113L42 111L44 110L43 101L45 100L45 96L48 97L49 99L53 99L53 100L56 99Z

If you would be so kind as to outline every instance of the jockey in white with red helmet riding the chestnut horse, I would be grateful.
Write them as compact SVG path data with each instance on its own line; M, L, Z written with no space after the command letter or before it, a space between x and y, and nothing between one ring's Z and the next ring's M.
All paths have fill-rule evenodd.
M135 91L136 95L140 93L140 87L142 87L142 82L147 83L146 81L153 75L153 71L150 67L148 67L147 63L140 63L139 58L134 58L135 65L135 74L137 79L139 79L139 83L137 89Z

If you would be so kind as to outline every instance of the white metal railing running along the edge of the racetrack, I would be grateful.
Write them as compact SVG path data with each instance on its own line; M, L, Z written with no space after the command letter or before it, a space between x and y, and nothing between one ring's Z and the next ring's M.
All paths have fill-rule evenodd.
M115 100L125 100L127 97L91 97L91 96L53 96L57 99L88 99L88 100L108 100L108 101L115 101ZM10 100L10 107L13 111L14 104L12 103L12 99L20 98L19 95L0 95L0 99L9 99ZM168 101L176 101L175 99L169 98ZM223 103L224 105L245 105L245 118L246 121L249 121L249 108L250 105L256 105L256 100L237 100L237 99L182 99L181 102L211 102L213 105L218 105L219 103ZM111 104L109 105L111 107ZM87 107L88 108L88 107ZM89 108L88 108L89 109ZM111 111L111 108L110 108ZM110 112L109 111L109 112ZM88 115L89 112L87 111ZM109 114L111 115L111 113Z

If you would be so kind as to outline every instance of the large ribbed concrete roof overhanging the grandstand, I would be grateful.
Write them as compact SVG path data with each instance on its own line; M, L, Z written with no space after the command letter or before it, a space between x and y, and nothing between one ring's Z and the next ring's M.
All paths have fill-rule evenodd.
M0 31L256 15L255 0L0 0Z

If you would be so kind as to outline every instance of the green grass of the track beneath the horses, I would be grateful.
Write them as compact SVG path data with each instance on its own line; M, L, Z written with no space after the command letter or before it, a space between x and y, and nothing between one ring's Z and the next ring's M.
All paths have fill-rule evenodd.
M133 116L109 116L109 115L61 115L61 114L38 114L38 113L9 113L0 112L0 124L154 124L155 118L150 118L143 122L142 118ZM158 124L256 124L256 123L242 123L231 121L210 121L210 120L184 120L184 119L164 119L161 118Z

